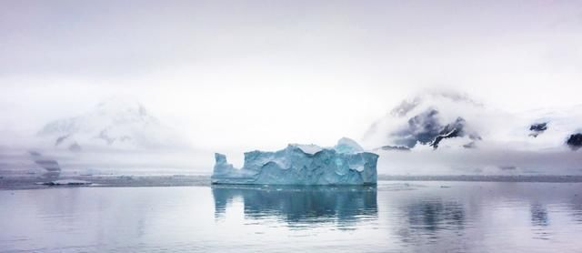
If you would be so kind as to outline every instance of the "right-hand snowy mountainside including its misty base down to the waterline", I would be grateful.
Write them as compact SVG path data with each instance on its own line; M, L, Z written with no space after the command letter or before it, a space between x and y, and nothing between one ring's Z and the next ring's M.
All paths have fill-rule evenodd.
M426 93L388 110L361 143L380 155L380 174L582 175L582 106L507 112Z

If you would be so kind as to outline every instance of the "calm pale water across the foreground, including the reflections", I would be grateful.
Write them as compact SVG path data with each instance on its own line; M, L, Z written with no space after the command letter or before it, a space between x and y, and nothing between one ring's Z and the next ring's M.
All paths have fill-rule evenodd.
M0 191L7 252L580 250L580 183Z

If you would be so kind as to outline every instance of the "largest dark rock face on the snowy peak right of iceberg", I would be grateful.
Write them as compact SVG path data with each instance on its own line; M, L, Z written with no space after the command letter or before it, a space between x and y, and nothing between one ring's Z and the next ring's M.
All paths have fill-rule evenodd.
M396 137L396 147L412 148L416 143L430 145L437 148L438 144L445 138L470 137L477 140L477 134L468 134L466 131L467 121L462 117L457 117L455 122L443 126L438 117L436 109L428 109L425 112L408 119L404 129L392 133Z

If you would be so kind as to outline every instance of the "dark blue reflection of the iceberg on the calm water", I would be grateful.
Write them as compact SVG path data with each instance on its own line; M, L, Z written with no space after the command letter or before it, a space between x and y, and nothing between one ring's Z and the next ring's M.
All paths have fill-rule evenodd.
M348 226L377 218L376 187L214 186L216 218L242 199L246 218L276 218L289 224L336 222ZM236 200L235 200L236 199Z

